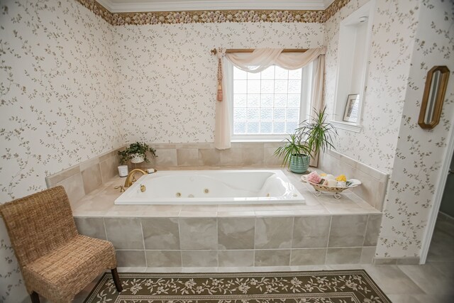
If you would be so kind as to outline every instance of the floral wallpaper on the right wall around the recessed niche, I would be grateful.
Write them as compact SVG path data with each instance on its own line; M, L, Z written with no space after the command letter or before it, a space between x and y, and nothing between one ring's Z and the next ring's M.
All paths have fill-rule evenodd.
M339 23L367 1L350 1L326 21L325 101L333 111L338 65ZM411 63L418 0L377 1L360 133L339 130L336 150L391 173L407 77ZM355 148L352 148L354 146Z

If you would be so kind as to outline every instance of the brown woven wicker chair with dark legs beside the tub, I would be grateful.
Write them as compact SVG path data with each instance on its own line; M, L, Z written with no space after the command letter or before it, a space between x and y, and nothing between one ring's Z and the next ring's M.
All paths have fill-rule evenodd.
M0 206L11 244L33 303L71 302L98 275L111 269L121 292L114 246L79 235L61 186Z

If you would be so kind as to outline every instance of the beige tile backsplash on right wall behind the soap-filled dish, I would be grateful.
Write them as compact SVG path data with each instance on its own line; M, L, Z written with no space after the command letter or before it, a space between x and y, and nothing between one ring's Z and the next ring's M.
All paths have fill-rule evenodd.
M352 189L352 192L364 199L375 209L382 210L386 194L389 175L374 168L353 160L338 153L336 150L326 150L320 155L321 170L333 175L344 174L349 179L358 179L361 186Z

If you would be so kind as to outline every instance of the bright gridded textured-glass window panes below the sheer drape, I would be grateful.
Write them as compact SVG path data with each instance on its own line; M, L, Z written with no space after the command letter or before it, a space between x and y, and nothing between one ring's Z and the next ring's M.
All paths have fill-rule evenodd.
M271 66L258 73L233 67L233 140L282 140L301 116L304 69ZM304 107L304 106L303 106Z

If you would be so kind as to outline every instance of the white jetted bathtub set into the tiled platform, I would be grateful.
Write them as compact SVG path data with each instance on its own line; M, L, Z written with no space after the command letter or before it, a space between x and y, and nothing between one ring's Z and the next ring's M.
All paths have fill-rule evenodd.
M160 171L143 175L115 200L115 204L295 203L304 203L304 197L282 170Z

